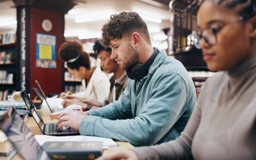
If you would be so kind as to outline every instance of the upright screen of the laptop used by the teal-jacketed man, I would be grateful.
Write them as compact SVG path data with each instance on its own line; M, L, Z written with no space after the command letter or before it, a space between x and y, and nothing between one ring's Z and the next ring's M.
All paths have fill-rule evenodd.
M44 120L43 118L40 116L39 112L37 111L35 104L32 102L32 100L30 99L30 97L28 96L28 93L26 92L26 90L20 92L20 96L22 97L22 99L24 100L26 106L29 108L31 115L33 116L33 118L36 121L36 124L38 124L38 126L40 127L41 131L44 133Z

